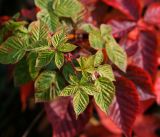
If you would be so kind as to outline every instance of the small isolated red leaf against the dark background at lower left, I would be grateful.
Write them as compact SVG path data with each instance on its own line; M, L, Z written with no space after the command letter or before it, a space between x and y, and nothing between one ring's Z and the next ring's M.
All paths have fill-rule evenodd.
M30 81L20 87L20 97L22 103L22 110L25 110L27 106L28 98L34 93L34 84L33 81Z

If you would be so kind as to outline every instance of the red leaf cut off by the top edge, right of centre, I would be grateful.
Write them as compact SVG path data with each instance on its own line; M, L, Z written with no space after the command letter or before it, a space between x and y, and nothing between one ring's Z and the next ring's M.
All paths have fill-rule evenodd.
M139 0L103 0L106 4L120 10L130 19L138 20L141 15Z

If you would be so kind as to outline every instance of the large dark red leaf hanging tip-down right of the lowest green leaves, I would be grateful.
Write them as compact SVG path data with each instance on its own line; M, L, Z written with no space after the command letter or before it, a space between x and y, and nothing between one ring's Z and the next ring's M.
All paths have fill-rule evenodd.
M116 79L116 100L110 107L109 115L113 122L131 137L132 128L139 111L139 98L133 82L125 77Z

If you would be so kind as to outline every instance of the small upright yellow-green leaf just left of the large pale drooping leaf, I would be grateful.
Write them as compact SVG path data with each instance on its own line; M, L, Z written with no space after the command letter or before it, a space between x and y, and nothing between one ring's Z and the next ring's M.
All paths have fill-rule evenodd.
M94 66L97 67L99 66L104 60L103 52L102 50L98 50L97 53L95 54L95 59L94 59Z

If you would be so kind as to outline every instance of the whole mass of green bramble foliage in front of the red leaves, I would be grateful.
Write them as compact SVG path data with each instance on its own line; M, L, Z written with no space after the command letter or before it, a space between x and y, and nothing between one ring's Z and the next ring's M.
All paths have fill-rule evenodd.
M87 108L89 96L94 96L97 105L107 112L115 95L115 78L102 50L122 71L127 65L126 53L112 37L111 28L102 24L98 29L82 22L84 8L77 0L35 3L41 8L37 21L27 24L10 20L4 24L4 32L11 30L12 34L1 44L0 62L16 64L15 84L35 81L36 102L72 96L78 116ZM74 56L81 48L68 38L74 29L89 34L90 47L94 49L91 55ZM68 61L67 55L74 58Z

